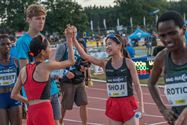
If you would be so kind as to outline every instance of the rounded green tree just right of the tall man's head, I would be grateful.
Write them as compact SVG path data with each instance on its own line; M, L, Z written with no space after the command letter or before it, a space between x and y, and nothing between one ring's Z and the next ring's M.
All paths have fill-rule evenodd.
M71 1L56 0L45 3L48 7L46 30L48 32L63 33L67 24L74 24L80 32L88 25L87 16L83 8Z

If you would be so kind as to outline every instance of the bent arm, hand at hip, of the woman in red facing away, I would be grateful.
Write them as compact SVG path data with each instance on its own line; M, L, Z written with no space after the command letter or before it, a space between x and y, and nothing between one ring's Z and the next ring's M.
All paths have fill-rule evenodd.
M22 87L21 74L24 73L23 70L25 70L25 67L19 73L16 84L15 84L15 86L14 86L12 92L11 92L11 98L15 99L15 100L18 100L18 101L21 101L23 103L28 103L28 99L21 96L21 94L20 94L20 90L21 90L21 87Z

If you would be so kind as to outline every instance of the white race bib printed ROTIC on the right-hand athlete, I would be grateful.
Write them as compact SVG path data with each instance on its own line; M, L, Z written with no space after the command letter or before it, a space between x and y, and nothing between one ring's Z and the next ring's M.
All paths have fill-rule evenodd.
M187 105L187 82L167 84L164 93L171 106Z

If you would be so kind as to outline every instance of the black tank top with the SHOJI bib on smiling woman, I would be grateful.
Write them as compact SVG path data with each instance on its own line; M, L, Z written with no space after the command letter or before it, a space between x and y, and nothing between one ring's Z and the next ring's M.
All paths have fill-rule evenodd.
M105 73L109 97L127 97L133 95L132 78L125 58L119 69L113 68L112 59L110 59L106 64Z

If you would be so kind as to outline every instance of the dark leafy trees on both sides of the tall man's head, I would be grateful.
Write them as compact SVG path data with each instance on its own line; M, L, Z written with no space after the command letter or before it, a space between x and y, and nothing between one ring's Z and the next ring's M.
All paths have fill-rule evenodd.
M36 2L38 0L1 0L1 27L14 31L27 30L25 10L28 5ZM48 10L45 31L62 33L67 24L76 25L80 31L86 30L87 16L77 3L71 0L48 0L42 4Z

